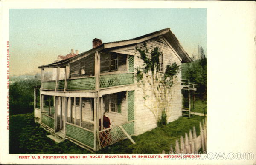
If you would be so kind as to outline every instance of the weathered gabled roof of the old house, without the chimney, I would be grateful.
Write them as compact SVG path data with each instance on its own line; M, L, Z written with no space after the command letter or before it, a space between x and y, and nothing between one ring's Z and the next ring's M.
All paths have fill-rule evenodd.
M89 52L91 52L91 53L93 53L94 51L96 52L99 49L103 50L103 49L115 48L115 47L120 47L120 46L125 47L125 46L132 45L132 44L142 43L146 40L150 40L150 39L152 39L154 37L158 37L158 36L163 36L163 37L166 38L166 40L175 49L177 54L181 57L182 63L188 63L188 62L192 61L192 59L189 57L189 55L186 53L186 51L180 45L179 40L172 33L170 28L165 28L165 29L162 29L160 31L155 31L153 33L145 34L143 36L136 37L136 38L133 38L133 39L130 39L130 40L121 40L121 41L116 41L116 42L102 43L102 45L97 46L96 48L90 49L89 51L78 54L74 57L66 58L66 59L64 59L62 61L59 61L59 62L56 62L56 63L39 66L38 68L54 67L55 65L67 63L68 61L73 60L73 59L75 59L77 57L80 57L84 54L87 54Z

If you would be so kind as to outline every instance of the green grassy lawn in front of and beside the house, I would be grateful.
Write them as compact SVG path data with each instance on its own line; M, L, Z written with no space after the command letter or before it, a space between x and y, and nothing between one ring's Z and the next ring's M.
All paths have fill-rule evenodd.
M89 151L65 140L56 143L49 139L49 134L39 124L34 123L33 113L12 115L10 117L9 153L12 154L90 154ZM132 138L137 143L133 145L126 139L106 147L97 153L162 153L169 151L170 145L175 148L175 141L189 132L195 126L199 134L199 122L204 117L193 115L190 119L180 117L163 127L157 127Z

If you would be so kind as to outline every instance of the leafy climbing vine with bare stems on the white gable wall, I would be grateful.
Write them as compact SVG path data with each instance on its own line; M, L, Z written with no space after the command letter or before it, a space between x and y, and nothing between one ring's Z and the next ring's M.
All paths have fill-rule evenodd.
M169 111L170 99L172 97L172 85L177 81L177 74L180 71L180 66L177 63L167 64L163 68L163 72L159 70L159 57L163 52L158 47L147 47L147 43L142 46L136 46L136 51L140 53L140 57L144 64L142 67L136 68L136 80L138 87L143 89L143 99L147 100L150 96L146 89L146 84L151 86L151 92L154 96L155 102L152 106L145 105L154 114L157 120L157 125L161 125L163 121L163 114ZM163 124L166 123L166 117ZM160 124L159 124L160 123Z

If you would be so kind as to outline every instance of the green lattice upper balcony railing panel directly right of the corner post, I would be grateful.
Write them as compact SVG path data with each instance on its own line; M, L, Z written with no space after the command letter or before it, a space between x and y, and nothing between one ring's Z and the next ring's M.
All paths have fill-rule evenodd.
M99 88L108 88L119 85L129 85L134 83L134 74L107 74L99 78Z

